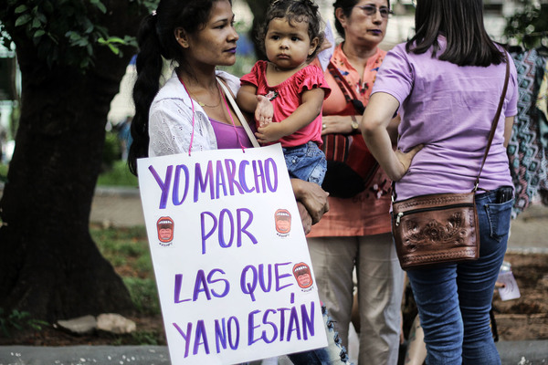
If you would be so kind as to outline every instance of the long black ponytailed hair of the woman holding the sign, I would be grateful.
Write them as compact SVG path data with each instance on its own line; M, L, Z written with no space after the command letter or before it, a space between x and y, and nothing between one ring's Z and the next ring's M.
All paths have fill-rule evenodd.
M149 109L160 89L163 58L179 68L186 67L183 48L175 39L175 28L195 33L207 23L216 1L219 0L162 0L153 14L142 19L137 34L137 79L133 87L133 141L128 154L128 165L134 175L137 175L137 159L148 157Z

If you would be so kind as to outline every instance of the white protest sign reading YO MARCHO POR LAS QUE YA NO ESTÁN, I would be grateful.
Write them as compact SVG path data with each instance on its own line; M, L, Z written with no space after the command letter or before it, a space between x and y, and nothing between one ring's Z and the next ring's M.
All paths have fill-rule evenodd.
M141 159L138 170L174 365L327 345L279 144Z

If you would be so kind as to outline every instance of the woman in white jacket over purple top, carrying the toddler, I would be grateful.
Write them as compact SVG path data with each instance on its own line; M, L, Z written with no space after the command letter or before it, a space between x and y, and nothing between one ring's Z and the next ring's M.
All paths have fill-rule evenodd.
M243 128L248 121L238 118L227 103L227 98L236 96L240 81L216 70L235 63L237 39L229 0L162 0L157 11L145 17L133 90L135 117L128 159L133 173L141 157L252 146ZM176 68L160 89L163 58ZM329 209L327 193L316 183L299 179L291 183L308 232ZM346 363L335 337L330 329L328 348L293 354L290 359L300 364Z

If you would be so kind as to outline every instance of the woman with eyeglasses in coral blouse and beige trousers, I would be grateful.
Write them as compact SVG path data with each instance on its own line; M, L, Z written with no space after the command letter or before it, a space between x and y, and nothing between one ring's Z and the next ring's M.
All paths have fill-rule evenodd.
M335 27L343 41L332 56L330 68L335 69L325 74L332 94L323 103L322 134L361 138L357 121L364 110L360 104L367 105L385 58L386 52L378 46L392 11L388 0L337 0L333 7ZM347 97L357 101L349 103ZM340 176L335 183L346 181ZM358 360L362 365L392 365L398 359L404 273L390 234L390 185L385 172L378 169L362 192L349 198L330 196L330 212L307 236L320 299L330 308L345 346L355 269L360 320L354 327L360 333Z

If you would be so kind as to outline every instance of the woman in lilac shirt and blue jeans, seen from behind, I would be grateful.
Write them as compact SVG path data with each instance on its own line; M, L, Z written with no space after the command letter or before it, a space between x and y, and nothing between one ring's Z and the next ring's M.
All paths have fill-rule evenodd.
M397 200L469 193L501 97L506 51L483 26L480 0L418 0L416 36L385 57L364 113L364 139L395 183ZM511 59L506 54L507 59ZM510 230L506 144L517 113L516 69L504 99L476 204L476 261L408 270L427 344L427 364L500 364L490 305ZM398 150L386 126L402 117Z

